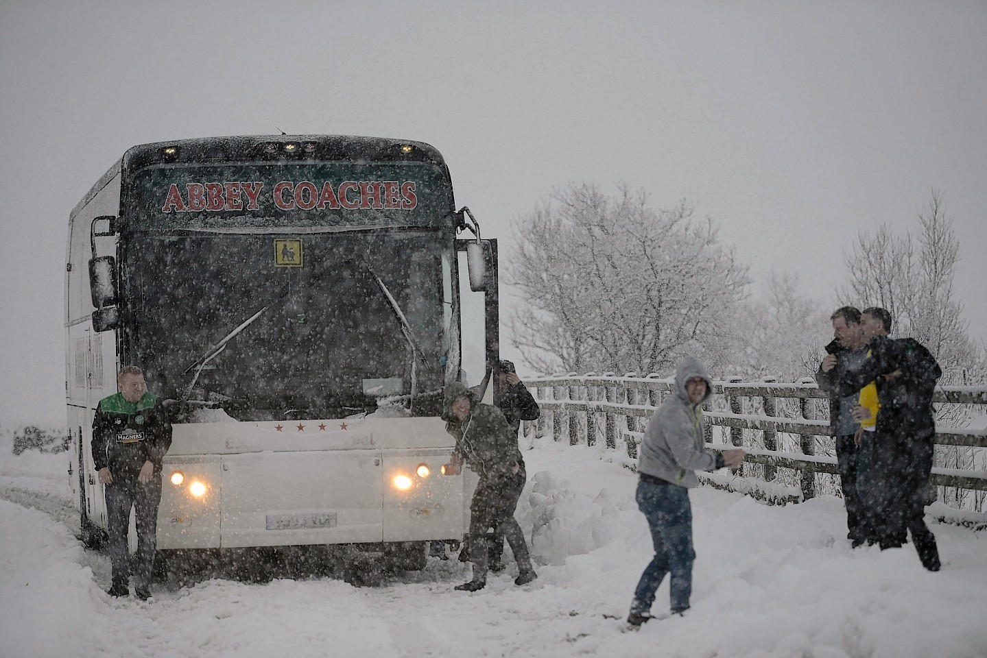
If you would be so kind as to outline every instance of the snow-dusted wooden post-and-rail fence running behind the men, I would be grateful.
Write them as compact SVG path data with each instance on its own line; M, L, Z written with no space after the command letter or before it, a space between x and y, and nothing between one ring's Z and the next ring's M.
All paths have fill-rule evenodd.
M638 377L629 373L623 377L606 374L544 377L525 381L542 408L542 417L525 422L525 435L531 432L551 432L557 441L564 437L570 444L593 445L602 435L608 448L621 444L631 458L636 458L645 419L650 417L663 396L674 389L674 382L656 375ZM837 474L835 453L816 455L820 444L824 453L832 453L829 444L828 400L811 379L794 384L779 383L770 378L761 382L740 382L730 379L715 382L714 396L704 404L707 420L706 440L710 450L722 451L742 446L747 455L744 463L758 465L751 469L754 480L765 484L774 482L779 468L792 469L798 474L800 495L783 495L790 500L807 499L816 494L815 474ZM791 402L788 402L791 401ZM780 403L781 402L781 403ZM971 387L938 387L933 402L938 404L987 404L987 389ZM746 407L746 408L745 408ZM779 409L789 415L779 413ZM749 411L749 412L748 412ZM819 417L816 417L819 416ZM568 422L567 422L568 419ZM715 430L715 428L719 428ZM748 440L744 440L744 432ZM719 433L720 442L714 441ZM750 433L756 435L751 438ZM788 435L791 450L779 450L779 435ZM797 439L797 440L796 440ZM937 426L938 446L957 448L987 448L987 431ZM748 475L748 474L744 474ZM722 478L712 475L706 481L732 488ZM930 482L938 486L987 491L987 472L975 470L933 468Z

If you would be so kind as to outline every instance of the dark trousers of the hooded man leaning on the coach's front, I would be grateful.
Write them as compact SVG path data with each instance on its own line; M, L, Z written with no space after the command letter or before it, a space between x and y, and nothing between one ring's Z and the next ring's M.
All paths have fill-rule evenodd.
M521 526L514 518L517 499L524 489L526 475L521 468L516 475L506 477L481 477L470 503L470 561L473 562L473 580L486 580L488 570L487 531L500 533L514 553L521 571L531 569L531 555L524 541Z

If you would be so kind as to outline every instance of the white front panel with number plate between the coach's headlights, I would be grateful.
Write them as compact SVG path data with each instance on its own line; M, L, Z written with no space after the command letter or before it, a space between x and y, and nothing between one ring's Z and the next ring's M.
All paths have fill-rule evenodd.
M223 455L220 477L223 548L383 541L377 450Z

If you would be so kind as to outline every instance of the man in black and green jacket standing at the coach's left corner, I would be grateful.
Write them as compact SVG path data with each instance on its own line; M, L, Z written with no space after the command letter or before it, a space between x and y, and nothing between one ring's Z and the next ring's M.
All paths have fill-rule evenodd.
M161 503L161 461L172 445L172 425L144 373L127 366L116 376L119 393L100 401L93 418L93 463L104 485L109 517L111 596L130 594L127 530L130 508L137 521L134 593L151 596L151 573L157 548L158 505Z

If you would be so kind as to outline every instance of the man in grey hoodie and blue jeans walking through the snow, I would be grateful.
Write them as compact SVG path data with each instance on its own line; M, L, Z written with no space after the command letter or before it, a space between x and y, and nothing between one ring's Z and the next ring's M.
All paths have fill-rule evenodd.
M634 627L651 619L654 592L671 573L671 612L681 615L692 594L692 507L689 489L699 484L696 471L734 467L744 451L712 455L704 449L703 402L713 395L706 368L686 356L675 372L675 392L647 423L638 459L638 508L651 529L654 557L641 574L627 621Z

